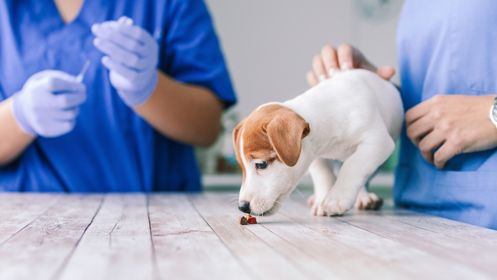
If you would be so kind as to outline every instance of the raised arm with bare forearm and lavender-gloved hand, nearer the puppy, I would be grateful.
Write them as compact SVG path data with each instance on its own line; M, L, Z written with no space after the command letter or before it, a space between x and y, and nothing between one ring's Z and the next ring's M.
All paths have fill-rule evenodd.
M92 26L121 99L163 135L209 146L220 132L223 102L206 87L179 83L158 71L158 45L125 16Z

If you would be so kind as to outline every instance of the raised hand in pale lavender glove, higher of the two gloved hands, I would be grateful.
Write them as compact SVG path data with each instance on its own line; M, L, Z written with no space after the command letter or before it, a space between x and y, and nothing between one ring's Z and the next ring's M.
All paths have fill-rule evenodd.
M159 45L133 20L122 16L91 26L93 45L106 54L102 64L110 70L110 83L130 107L145 103L158 82Z

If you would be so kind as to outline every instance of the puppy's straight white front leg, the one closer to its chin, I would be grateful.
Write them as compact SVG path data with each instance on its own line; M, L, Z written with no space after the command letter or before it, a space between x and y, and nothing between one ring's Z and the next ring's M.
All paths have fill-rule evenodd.
M336 181L336 177L326 164L326 159L315 159L309 167L312 182L314 185L314 195L309 198L309 206L311 206L311 214L324 216L322 204L326 195Z

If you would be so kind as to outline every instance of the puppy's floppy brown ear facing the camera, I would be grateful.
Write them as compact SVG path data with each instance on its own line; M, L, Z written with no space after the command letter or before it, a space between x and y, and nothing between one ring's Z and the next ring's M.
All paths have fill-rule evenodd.
M309 123L296 112L285 112L273 118L263 129L280 160L289 167L295 166L300 157L302 139L311 132Z

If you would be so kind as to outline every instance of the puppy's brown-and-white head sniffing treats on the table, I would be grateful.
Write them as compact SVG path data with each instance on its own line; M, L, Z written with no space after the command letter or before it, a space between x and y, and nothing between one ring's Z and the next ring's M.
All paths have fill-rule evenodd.
M278 210L300 180L297 163L310 132L309 123L279 104L262 105L237 125L233 143L244 175L241 211L270 215Z

